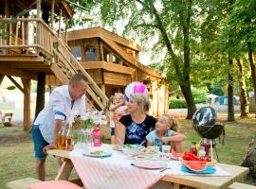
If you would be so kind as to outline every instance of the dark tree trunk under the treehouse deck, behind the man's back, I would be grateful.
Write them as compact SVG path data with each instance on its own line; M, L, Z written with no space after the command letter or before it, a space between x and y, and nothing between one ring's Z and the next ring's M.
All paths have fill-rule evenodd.
M39 73L37 78L36 110L35 118L45 107L46 74Z

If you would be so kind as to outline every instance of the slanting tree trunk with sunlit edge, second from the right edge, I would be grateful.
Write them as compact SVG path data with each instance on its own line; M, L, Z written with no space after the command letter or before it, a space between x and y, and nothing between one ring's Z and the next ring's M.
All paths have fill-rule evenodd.
M240 87L240 117L249 118L249 102L247 96L247 84L245 78L245 71L243 61L236 60L237 65L239 67L240 75L239 75L239 87Z

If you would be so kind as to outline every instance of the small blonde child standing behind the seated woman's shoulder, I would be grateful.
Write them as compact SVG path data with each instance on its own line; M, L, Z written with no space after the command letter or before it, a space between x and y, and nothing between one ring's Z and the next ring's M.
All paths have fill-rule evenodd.
M124 95L116 93L113 104L109 106L110 111L110 128L111 128L111 143L115 144L115 125L122 115L127 114L127 106L125 106Z

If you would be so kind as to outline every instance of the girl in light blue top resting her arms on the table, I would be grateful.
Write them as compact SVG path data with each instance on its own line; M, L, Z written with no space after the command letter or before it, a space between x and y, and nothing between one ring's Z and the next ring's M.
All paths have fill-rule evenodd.
M167 114L162 114L155 123L155 130L146 136L147 146L171 145L174 151L182 152L182 142L186 140L186 136L177 131L177 122Z

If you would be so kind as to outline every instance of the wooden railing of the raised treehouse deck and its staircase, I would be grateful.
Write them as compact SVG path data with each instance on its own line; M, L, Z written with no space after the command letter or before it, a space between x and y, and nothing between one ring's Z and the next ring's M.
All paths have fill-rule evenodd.
M67 83L70 77L81 72L89 81L88 94L104 109L107 96L72 55L67 44L42 19L0 18L0 25L0 34L7 34L7 38L0 38L0 54L9 55L13 51L17 53L17 50L23 54L43 54L53 72L56 69L61 71L54 74L62 83Z

